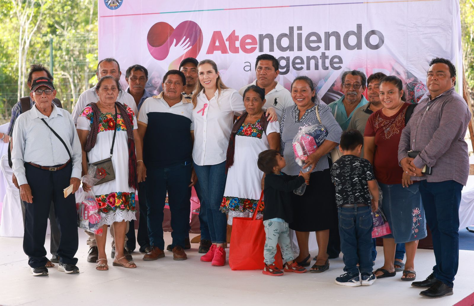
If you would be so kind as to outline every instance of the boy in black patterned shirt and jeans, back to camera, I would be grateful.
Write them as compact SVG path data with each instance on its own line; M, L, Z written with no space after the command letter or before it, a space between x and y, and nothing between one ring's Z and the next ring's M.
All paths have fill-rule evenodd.
M336 185L341 251L346 265L346 273L336 278L336 284L341 286L370 286L375 281L372 211L378 207L379 188L372 165L360 158L363 144L364 137L358 130L343 132L339 144L343 156L331 167L332 182Z

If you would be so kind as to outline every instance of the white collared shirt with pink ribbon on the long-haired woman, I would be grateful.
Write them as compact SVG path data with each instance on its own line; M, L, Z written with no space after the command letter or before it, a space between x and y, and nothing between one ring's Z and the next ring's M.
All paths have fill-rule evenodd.
M244 101L235 89L216 90L208 101L204 90L197 96L192 110L194 147L192 159L196 165L217 165L226 160L234 115L245 111Z

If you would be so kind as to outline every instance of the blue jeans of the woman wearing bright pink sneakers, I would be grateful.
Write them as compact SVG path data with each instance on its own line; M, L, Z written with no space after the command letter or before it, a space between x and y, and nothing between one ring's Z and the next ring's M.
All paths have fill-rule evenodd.
M224 243L227 236L227 216L219 208L226 188L226 162L204 166L194 164L194 171L206 203L210 241Z

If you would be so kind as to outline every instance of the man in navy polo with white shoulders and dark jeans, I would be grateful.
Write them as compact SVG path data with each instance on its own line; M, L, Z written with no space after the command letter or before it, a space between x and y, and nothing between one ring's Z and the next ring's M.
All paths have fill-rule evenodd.
M191 156L193 105L181 94L185 85L186 77L181 71L168 71L163 77L163 92L146 99L138 115L138 135L143 140L143 161L147 168L147 224L151 244L143 260L164 257L163 209L166 193L173 228L173 260L187 259L184 247L189 231L191 186L196 183L196 175Z

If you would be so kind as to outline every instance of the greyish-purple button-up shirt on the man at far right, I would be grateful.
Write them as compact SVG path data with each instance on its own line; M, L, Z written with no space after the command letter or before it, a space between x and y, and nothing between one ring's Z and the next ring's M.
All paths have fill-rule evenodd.
M464 137L471 119L466 102L452 87L432 100L427 93L418 104L401 132L398 161L408 157L409 150L420 151L413 163L433 167L433 174L412 179L466 185L469 154Z

